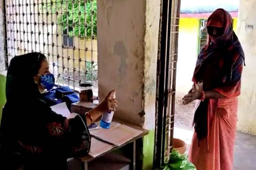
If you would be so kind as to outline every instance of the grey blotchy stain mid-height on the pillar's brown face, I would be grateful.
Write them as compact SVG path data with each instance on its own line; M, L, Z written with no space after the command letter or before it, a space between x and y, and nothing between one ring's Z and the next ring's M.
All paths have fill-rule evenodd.
M126 59L128 58L127 49L125 48L124 42L118 41L114 45L114 54L120 56L120 64L119 64L119 76L120 79L123 79L127 74L127 63Z

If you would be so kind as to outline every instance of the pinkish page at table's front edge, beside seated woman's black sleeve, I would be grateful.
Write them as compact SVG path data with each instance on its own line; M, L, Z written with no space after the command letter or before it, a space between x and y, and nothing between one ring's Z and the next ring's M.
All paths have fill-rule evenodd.
M114 145L110 145L108 143L102 142L94 137L91 138L91 149L89 155L92 157L97 157L102 153L107 152L112 149Z

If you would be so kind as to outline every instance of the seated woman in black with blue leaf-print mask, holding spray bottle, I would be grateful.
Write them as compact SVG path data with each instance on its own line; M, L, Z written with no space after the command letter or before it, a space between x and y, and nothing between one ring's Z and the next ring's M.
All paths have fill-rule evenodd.
M65 169L68 157L90 150L87 126L104 112L115 111L115 91L90 112L67 119L41 99L54 86L46 57L28 53L14 57L7 71L6 99L0 127L0 169Z

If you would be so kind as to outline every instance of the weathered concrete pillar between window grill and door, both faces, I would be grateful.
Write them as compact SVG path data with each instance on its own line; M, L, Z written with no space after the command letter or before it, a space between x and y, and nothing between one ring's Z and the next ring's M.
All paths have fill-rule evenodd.
M97 2L99 98L116 89L119 103L114 116L150 130L143 145L143 168L150 169L160 0Z

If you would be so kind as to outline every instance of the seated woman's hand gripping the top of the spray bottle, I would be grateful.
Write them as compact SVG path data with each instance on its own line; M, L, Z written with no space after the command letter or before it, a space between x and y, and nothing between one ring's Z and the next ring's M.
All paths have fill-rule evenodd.
M113 99L113 96L115 94L115 90L112 90L109 92L107 97L98 105L98 109L104 113L109 111L116 111L117 108L117 100Z

